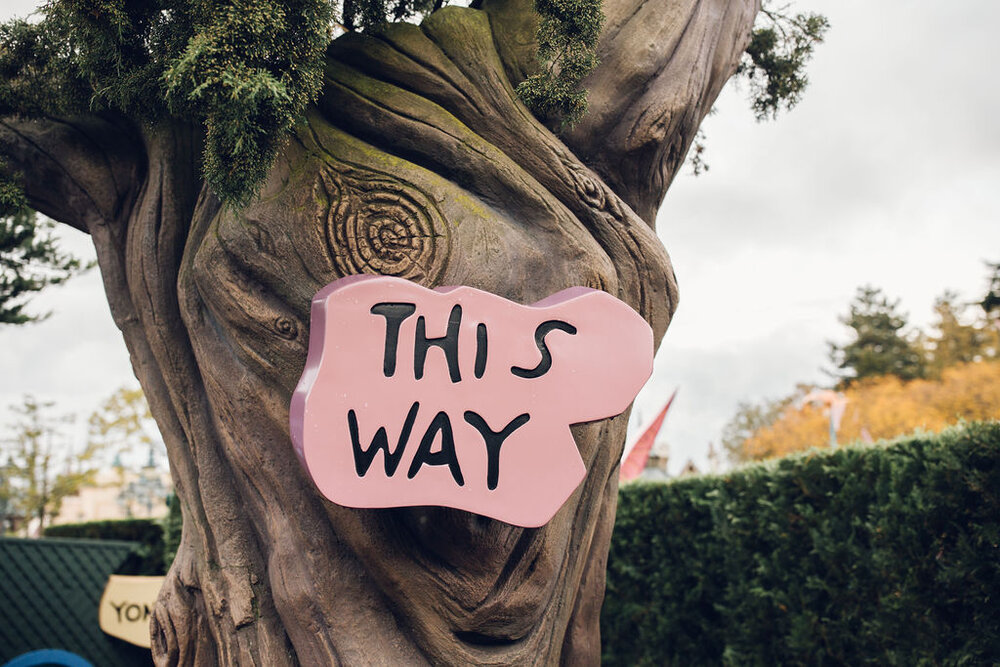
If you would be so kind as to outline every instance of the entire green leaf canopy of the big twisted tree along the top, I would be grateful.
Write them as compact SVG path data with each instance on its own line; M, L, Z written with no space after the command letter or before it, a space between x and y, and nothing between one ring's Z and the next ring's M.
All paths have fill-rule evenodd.
M244 204L318 95L334 27L377 31L442 4L50 0L40 21L0 26L0 115L103 112L195 123L205 131L208 183L224 201ZM805 63L827 28L821 16L764 5L740 68L761 117L798 101ZM539 70L518 91L550 125L571 124L586 111L580 84L597 64L601 0L536 0L535 7Z

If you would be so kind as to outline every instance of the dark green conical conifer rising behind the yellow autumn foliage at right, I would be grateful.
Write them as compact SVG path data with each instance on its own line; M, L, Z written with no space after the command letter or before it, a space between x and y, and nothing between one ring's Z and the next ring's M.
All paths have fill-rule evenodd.
M830 360L836 367L838 386L858 380L895 375L901 380L922 377L925 369L919 346L912 340L899 300L890 301L880 289L859 287L850 312L840 318L851 329L844 345L830 343Z

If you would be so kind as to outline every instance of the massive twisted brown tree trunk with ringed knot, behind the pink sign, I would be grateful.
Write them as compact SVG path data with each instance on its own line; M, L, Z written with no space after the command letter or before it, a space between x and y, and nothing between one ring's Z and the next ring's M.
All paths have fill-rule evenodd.
M659 343L677 303L653 218L732 74L754 0L606 3L592 112L517 101L523 0L347 35L259 197L223 208L202 137L117 117L6 119L32 204L88 231L167 443L184 533L154 613L173 664L593 664L627 414L573 433L585 481L546 526L347 509L292 450L309 302L381 273L530 303L610 292Z

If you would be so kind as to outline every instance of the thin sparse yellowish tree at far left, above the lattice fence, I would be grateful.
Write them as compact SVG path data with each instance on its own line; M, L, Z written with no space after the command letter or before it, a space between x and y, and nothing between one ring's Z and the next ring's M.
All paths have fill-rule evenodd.
M7 461L8 511L24 518L25 532L32 527L41 534L59 514L63 499L93 483L98 470L100 447L91 444L75 451L62 430L72 419L53 416L52 406L32 396L11 406L18 417L9 427L13 435L0 449Z

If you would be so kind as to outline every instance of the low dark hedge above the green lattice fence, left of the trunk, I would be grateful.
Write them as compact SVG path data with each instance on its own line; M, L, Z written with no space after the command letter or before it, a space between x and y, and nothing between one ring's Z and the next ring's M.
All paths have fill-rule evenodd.
M158 576L167 571L164 561L164 529L155 519L63 523L46 528L44 536L138 542L138 547L118 569L117 574Z

